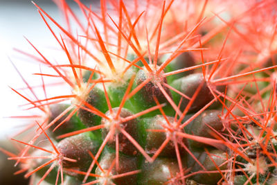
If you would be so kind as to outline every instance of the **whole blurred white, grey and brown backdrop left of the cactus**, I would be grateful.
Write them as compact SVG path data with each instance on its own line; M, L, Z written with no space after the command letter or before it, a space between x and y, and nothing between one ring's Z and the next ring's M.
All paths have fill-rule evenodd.
M53 1L34 1L57 22L64 25L62 13ZM91 3L92 1L82 2ZM73 10L78 10L78 6L73 1L68 1L68 3ZM80 12L77 11L78 13ZM53 29L57 30L54 26ZM33 75L33 73L39 73L39 64L15 51L15 49L20 49L37 55L24 37L28 38L38 49L42 49L48 58L55 57L56 60L60 58L59 55L55 55L57 51L53 47L57 46L57 42L30 0L0 0L0 184L3 185L27 183L22 180L23 175L12 175L15 170L19 169L12 168L14 162L6 160L7 155L1 151L1 148L4 148L17 153L9 138L26 123L22 119L9 118L9 116L26 115L24 111L26 107L21 107L27 103L26 100L10 89L10 87L14 89L26 87L15 67L30 84L41 84L41 78ZM12 63L15 64L15 67L12 66ZM25 90L22 89L22 91ZM26 94L30 94L27 89Z

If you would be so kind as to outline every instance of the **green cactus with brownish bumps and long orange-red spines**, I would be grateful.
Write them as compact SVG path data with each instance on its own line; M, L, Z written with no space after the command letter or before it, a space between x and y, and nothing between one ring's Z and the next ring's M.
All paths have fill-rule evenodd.
M275 0L74 0L78 14L53 1L65 22L32 3L63 60L28 38L17 50L39 64L41 85L15 64L26 115L11 118L28 124L12 135L17 152L0 152L16 174L30 184L277 183Z

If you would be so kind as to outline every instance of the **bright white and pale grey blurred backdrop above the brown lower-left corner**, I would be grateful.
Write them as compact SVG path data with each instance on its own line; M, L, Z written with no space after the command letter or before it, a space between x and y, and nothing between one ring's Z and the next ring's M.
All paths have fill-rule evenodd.
M55 19L60 21L59 11L51 0L37 0L39 5L49 12ZM51 46L55 40L47 30L42 18L37 12L37 8L29 0L0 0L0 85L1 85L1 106L0 106L0 138L4 139L17 130L20 121L6 118L6 116L16 116L24 114L19 105L26 103L26 100L19 97L12 88L24 87L24 82L19 74L12 67L10 60L15 64L22 76L28 82L33 80L32 73L37 71L33 62L23 59L14 49L21 49L34 53L30 44L24 39L30 39L39 46ZM10 59L9 59L10 58ZM9 87L10 86L10 87Z

